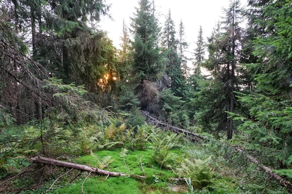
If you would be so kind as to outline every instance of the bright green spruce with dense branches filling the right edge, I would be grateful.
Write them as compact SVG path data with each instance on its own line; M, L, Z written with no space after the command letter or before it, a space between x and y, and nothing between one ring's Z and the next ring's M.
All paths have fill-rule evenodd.
M237 93L248 116L232 115L242 121L238 129L252 137L250 147L266 150L275 157L274 166L287 168L292 158L291 0L250 0L248 11L249 28L257 35L253 54L258 60L245 67L254 75L255 90ZM291 169L281 171L281 175L292 177Z

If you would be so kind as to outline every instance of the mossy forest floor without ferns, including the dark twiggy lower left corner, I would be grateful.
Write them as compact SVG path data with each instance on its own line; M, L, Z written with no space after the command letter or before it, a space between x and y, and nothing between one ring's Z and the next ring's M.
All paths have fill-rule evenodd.
M211 179L201 188L192 188L185 181L172 180L180 177L174 168L161 168L153 161L153 149L150 144L143 151L128 150L126 156L121 157L121 148L113 148L95 152L99 158L107 159L108 167L113 172L145 176L145 179L128 177L109 177L90 175L82 172L72 183L69 183L77 171L71 171L58 179L50 194L286 194L273 179L260 171L255 164L238 162L229 163L210 144L187 143L183 147L169 150L176 154L175 163L181 163L184 158L205 160L209 158L207 166L210 168ZM240 161L240 157L238 161ZM96 167L94 155L79 156L75 163ZM143 166L143 169L142 169ZM108 170L106 166L103 166ZM176 166L179 168L180 166ZM41 183L37 182L37 174L25 174L12 180L0 189L3 194L42 194L48 190L56 178L65 174L69 169L51 167L47 169L47 177ZM196 180L191 180L196 181ZM202 180L199 180L202 181ZM195 184L196 185L196 184ZM200 185L200 184L197 184ZM37 188L40 187L40 188Z

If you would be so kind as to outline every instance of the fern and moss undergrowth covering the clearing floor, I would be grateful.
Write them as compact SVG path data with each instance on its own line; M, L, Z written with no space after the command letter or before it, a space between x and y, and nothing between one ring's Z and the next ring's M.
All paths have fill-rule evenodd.
M56 181L48 193L80 194L83 184L85 194L286 194L285 188L279 187L255 164L246 162L243 155L215 141L194 144L181 135L150 125L134 129L114 123L80 130L83 141L79 146L82 146L78 148L78 144L73 144L71 153L75 155L65 155L58 160L129 176L106 179L92 174L87 177L88 173L83 172L73 179L79 172L72 171ZM4 159L15 160L5 163L6 166L14 165L17 172L20 166L29 165L24 155L10 153L14 154ZM27 154L30 156L31 153ZM11 172L14 168L7 169ZM25 174L11 181L0 193L41 194L68 171L45 167L35 174ZM146 178L136 179L132 175Z

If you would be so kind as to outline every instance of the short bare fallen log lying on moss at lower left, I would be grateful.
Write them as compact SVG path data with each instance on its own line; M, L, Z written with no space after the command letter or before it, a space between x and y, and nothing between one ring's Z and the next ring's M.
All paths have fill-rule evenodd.
M86 172L90 172L93 174L98 174L98 175L109 175L111 177L134 177L134 178L146 178L145 176L139 176L139 175L128 175L125 173L118 173L118 172L111 172L108 170L101 170L98 168L93 168L87 165L81 165L81 164L76 164L76 163L70 163L70 162L63 162L63 161L58 161L54 160L51 158L45 158L41 156L37 156L36 158L31 158L31 160L34 163L43 163L43 164L51 164L55 166L60 166L60 167L65 167L65 168L73 168L76 170L82 170Z

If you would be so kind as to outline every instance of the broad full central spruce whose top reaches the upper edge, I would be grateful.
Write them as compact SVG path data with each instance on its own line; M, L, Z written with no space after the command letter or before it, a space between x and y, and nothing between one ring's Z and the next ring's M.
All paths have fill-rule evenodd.
M159 47L160 28L155 16L154 1L140 0L132 19L131 31L133 74L138 80L156 81L164 70L164 58Z

